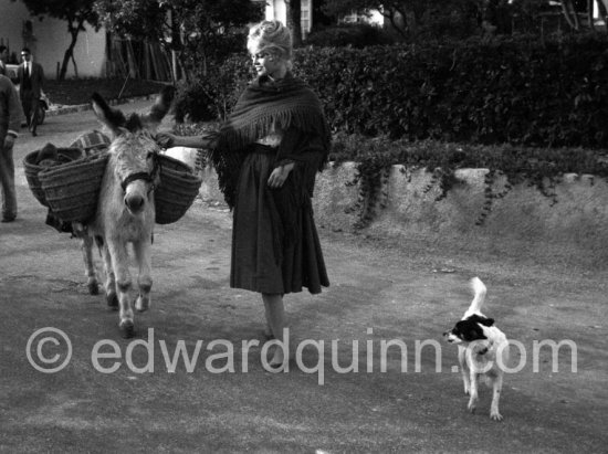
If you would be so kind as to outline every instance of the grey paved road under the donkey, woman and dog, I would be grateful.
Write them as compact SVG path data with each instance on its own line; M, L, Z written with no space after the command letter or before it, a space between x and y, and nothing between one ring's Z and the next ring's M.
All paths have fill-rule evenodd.
M0 224L0 452L606 450L604 270L321 229L332 287L286 298L292 350L302 348L302 361L273 374L261 366L260 347L242 359L243 340L262 340L263 316L256 295L228 286L230 214L197 201L179 222L157 226L153 308L136 315L135 340L120 339L116 313L87 294L78 243L44 225L21 166L30 150L66 146L96 126L91 112L49 117L39 137L23 135L15 149L19 218ZM469 306L474 275L488 284L488 315L525 349L513 355L522 370L505 379L502 423L488 416L485 388L479 412L467 412L455 348L441 340ZM72 345L56 373L34 369L27 356L44 327ZM542 350L535 372L537 339L574 340L577 371L563 348L556 359ZM407 372L396 347L382 355L382 340L406 345ZM424 340L439 346L437 357L432 345L416 351ZM340 373L353 363L355 341L358 372ZM190 357L198 345L198 361L180 358L171 372L180 345ZM62 361L63 348L49 340L40 353ZM106 358L95 362L95 351Z

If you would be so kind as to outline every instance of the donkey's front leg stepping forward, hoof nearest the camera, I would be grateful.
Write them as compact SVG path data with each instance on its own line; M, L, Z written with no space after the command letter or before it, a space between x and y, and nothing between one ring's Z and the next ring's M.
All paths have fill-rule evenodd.
M120 313L118 314L120 323L118 327L123 337L133 337L135 334L135 324L133 321L132 302L128 295L132 279L128 271L127 245L122 241L108 240L107 247L112 257L112 267L116 274L116 289L118 291L118 303L120 305Z

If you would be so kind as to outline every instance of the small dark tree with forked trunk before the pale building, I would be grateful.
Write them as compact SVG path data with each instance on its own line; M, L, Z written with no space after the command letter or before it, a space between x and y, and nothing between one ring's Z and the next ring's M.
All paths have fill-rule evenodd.
M17 0L11 0L17 1ZM99 29L99 18L93 8L94 0L21 0L32 15L43 18L49 15L67 22L67 33L71 42L63 54L63 62L59 78L63 81L67 72L67 64L72 60L76 77L78 70L74 60L74 46L76 45L78 33L86 31L85 24L88 23L95 30Z

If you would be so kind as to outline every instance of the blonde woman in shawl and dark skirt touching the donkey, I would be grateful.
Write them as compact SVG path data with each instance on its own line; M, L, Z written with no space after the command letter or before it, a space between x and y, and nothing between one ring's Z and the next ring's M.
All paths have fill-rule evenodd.
M289 29L279 21L252 27L248 50L258 77L219 134L159 141L212 148L220 189L234 209L230 286L261 293L272 335L286 341L284 294L329 285L311 198L331 134L318 97L290 71ZM270 363L283 368L287 359L276 348Z

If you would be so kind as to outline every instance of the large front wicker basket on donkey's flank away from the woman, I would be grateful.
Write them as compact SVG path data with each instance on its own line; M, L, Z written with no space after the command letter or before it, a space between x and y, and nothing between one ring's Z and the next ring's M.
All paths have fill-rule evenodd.
M88 156L39 173L44 197L64 222L86 222L95 215L109 155Z

